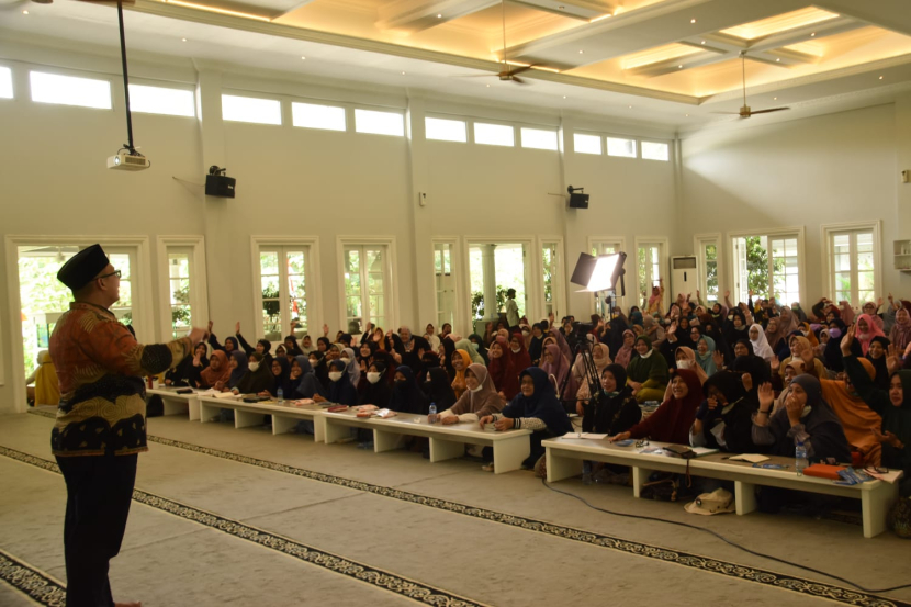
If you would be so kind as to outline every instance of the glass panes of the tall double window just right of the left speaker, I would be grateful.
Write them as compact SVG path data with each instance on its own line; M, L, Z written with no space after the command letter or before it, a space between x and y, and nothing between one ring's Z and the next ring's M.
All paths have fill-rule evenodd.
M306 276L310 247L269 246L259 249L259 277L262 289L262 335L281 341L296 321L296 337L307 333ZM285 290L284 292L282 292Z

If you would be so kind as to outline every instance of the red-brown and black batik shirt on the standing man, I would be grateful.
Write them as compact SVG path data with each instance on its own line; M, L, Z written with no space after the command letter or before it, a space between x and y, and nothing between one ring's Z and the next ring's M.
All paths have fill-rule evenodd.
M71 303L50 336L60 406L50 432L55 456L147 451L144 375L166 371L193 346L189 337L143 346L108 310Z

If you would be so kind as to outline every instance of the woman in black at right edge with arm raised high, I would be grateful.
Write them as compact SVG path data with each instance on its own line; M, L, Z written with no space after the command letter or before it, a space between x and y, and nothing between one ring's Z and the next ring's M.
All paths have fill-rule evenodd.
M882 418L880 428L874 430L882 446L881 465L904 471L899 493L911 497L911 371L895 371L889 390L879 390L852 351L853 341L853 330L848 330L842 342L845 372L861 398Z

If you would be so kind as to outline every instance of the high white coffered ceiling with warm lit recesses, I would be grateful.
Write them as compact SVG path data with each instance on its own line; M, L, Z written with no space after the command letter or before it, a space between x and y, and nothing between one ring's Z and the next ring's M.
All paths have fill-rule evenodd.
M136 0L127 9L136 50L681 131L736 120L716 112L743 104L744 68L754 111L794 109L751 121L911 90L909 0ZM22 42L117 43L115 11L89 2L0 0L0 27ZM503 60L533 66L521 75L529 85L498 80Z

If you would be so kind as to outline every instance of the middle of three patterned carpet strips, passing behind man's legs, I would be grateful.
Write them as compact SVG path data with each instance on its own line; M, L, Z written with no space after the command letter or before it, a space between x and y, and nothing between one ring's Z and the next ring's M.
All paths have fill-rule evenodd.
M60 470L55 462L32 456L30 453L24 453L15 449L10 449L8 447L0 446L0 456L19 461L21 463L41 468L48 472L54 472L57 474L60 473ZM240 521L233 520L230 518L225 518L214 513L201 510L199 508L194 508L193 506L188 506L187 504L181 504L180 502L176 502L167 497L161 497L160 495L155 495L146 491L133 490L133 499L139 504L144 504L146 506L150 506L158 510L166 512L168 514L183 518L185 520L190 520L199 525L209 527L211 529L228 533L229 536L247 540L263 548L281 552L282 554L292 557L299 561L303 561L312 565L316 565L333 571L335 573L352 577L360 582L370 584L371 586L374 586L376 588L392 592L402 597L410 598L418 603L424 603L427 605L434 605L439 607L486 607L483 603L477 603L454 595L452 593L448 593L440 588L428 586L427 584L421 584L419 582L415 582L413 580L408 580L370 565L358 563L356 561L338 557L330 552L326 552L325 550L318 550L313 547L301 543L299 541L295 541L293 539L279 536L270 531L266 531L265 529L259 529L250 525L245 525ZM2 561L0 561L0 563L2 563ZM15 563L20 567L24 566L22 563ZM36 570L23 569L22 571L27 574L32 574L35 577L34 581L29 582L27 584L23 581L23 584L26 584L25 587L35 586L37 588L40 587L42 581L46 583L50 582L50 578L41 575ZM11 571L10 575L13 577L14 581L15 572ZM0 578L3 581L9 581L5 575L3 575ZM18 588L23 589L20 584L16 584L14 582L10 583ZM25 589L23 589L23 592L25 592ZM65 605L65 602L42 604L63 606Z

